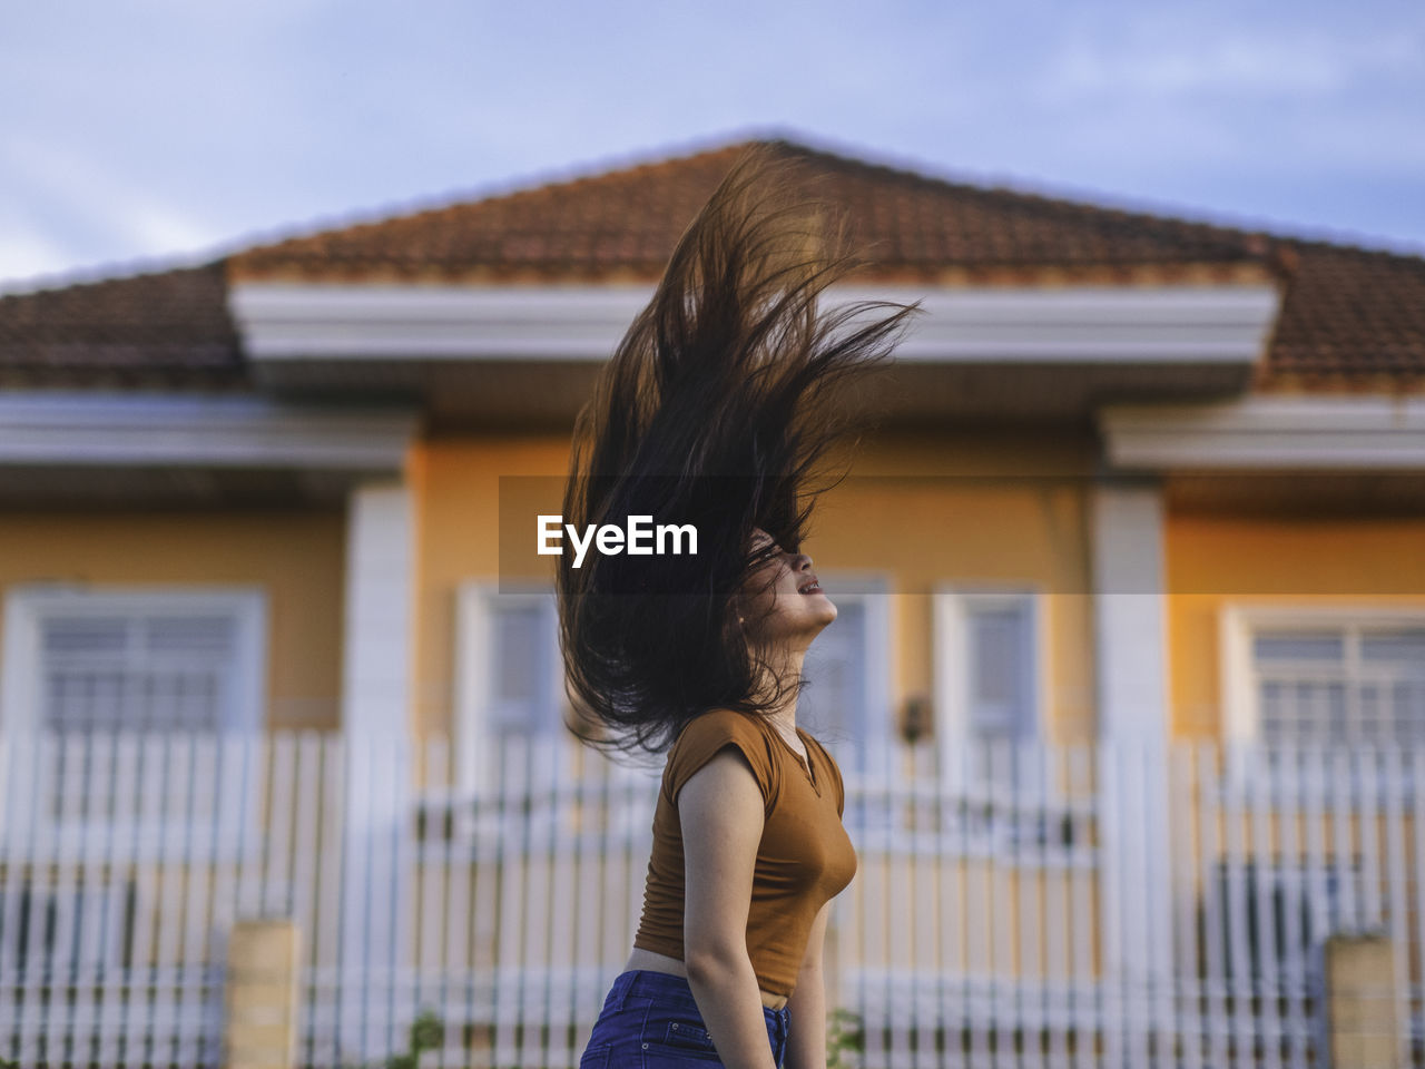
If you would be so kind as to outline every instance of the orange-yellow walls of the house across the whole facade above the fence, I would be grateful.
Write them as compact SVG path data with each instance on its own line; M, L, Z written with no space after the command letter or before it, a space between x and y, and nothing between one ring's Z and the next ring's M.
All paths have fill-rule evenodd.
M1047 436L886 432L862 445L852 477L822 497L805 549L818 570L884 573L899 594L891 636L895 707L931 693L926 594L935 583L1026 583L1054 592L1047 599L1052 734L1093 733L1087 482L1080 477L1090 456L1087 445ZM500 572L499 476L544 476L559 487L567 463L563 435L435 439L415 450L415 713L423 731L452 727L455 593L469 579L494 580ZM268 723L331 728L341 704L345 537L339 513L101 515L83 523L71 513L6 516L0 589L37 579L261 586L271 604ZM1226 601L1425 611L1422 544L1425 519L1170 513L1173 734L1220 730L1217 614Z

